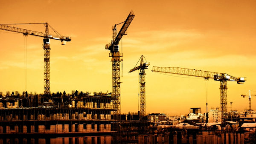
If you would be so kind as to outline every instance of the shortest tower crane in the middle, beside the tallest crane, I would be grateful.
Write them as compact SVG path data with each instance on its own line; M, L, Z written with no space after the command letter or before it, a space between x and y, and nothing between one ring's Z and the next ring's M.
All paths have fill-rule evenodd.
M129 72L134 72L136 70L140 69L140 120L143 120L143 117L146 115L146 98L145 98L145 69L148 69L148 66L150 64L147 62L144 62L143 60L143 55L141 55L139 61L140 61L140 66L137 66L137 64L134 66L133 69L131 69ZM144 57L145 58L145 57Z

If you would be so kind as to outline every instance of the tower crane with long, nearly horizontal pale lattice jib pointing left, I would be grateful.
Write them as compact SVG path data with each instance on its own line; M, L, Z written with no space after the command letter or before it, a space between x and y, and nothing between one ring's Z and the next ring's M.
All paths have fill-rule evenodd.
M201 77L204 79L212 78L214 81L221 82L221 121L222 123L227 121L227 81L236 81L237 84L244 84L246 78L244 77L233 77L226 73L220 72L208 72L197 69L185 69L179 67L157 67L153 66L152 72L164 72L177 75L188 75Z

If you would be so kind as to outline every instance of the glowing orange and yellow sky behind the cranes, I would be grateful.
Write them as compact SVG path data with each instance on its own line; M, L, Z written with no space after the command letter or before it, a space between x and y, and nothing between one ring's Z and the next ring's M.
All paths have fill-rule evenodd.
M206 111L203 78L180 78L151 72L152 66L172 66L247 77L244 85L227 82L230 110L248 109L256 91L256 2L212 0L2 0L0 23L48 22L72 41L51 40L50 90L112 91L111 58L105 44L112 25L135 17L122 39L121 112L138 109L139 72L128 73L141 55L146 70L146 113L184 115L190 107ZM44 32L43 25L18 26ZM120 27L118 27L118 30ZM51 31L52 33L52 31ZM0 92L24 90L24 37L0 31ZM27 37L27 91L43 92L42 38ZM121 41L120 41L121 46ZM220 107L220 83L208 81L208 109ZM256 110L256 98L252 98Z

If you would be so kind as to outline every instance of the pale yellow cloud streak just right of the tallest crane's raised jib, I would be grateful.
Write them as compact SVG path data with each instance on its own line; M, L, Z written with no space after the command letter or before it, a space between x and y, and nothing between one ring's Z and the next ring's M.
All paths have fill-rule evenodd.
M202 37L195 30L137 32L132 38L123 40L123 46L133 48L136 52L161 52L164 49L177 49Z

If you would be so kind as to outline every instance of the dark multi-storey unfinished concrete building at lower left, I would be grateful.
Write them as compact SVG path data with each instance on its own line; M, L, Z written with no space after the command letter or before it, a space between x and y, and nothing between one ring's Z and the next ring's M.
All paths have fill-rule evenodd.
M101 92L76 91L72 95L23 92L23 95L1 96L0 143L14 137L20 142L50 143L50 139L47 141L47 138L40 139L36 135L55 138L83 135L89 136L82 140L84 142L111 143L111 132L114 132L111 124L116 121L111 118L111 113L116 111L112 101L111 93ZM71 141L72 138L63 142Z

